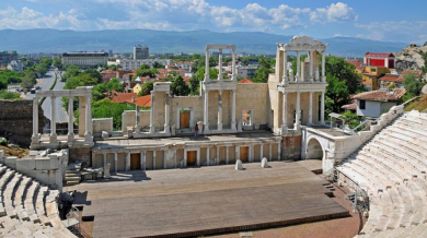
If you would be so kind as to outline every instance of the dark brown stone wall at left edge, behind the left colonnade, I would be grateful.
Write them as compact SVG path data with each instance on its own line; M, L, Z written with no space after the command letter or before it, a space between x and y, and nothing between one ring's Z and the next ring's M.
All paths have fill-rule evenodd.
M48 122L38 107L38 132ZM0 100L0 136L10 143L30 146L33 134L33 100Z

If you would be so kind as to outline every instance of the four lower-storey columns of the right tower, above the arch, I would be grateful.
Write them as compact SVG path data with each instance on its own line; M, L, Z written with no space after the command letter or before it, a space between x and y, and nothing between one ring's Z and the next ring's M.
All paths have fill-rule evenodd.
M313 93L314 92L309 92L310 98L309 98L309 124L313 123ZM324 124L325 118L324 118L324 112L325 112L325 92L322 91L321 93L321 120L320 123ZM282 110L281 110L281 121L282 121L282 127L287 127L287 115L288 115L288 105L287 105L287 97L288 93L284 93L284 98L282 98ZM296 107L296 122L293 124L293 129L298 130L301 127L301 92L297 92L297 107Z

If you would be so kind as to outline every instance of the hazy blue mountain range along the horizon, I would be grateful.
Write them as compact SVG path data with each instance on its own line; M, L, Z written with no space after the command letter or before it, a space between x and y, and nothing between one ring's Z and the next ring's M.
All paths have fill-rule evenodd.
M131 52L135 45L147 45L150 52L203 53L206 44L235 44L239 52L275 55L276 43L288 43L292 36L261 32L216 33L210 31L171 32L152 29L107 29L93 32L58 29L2 29L0 50L19 53L101 51ZM407 43L390 43L351 37L321 39L327 52L341 57L362 57L367 51L400 52Z

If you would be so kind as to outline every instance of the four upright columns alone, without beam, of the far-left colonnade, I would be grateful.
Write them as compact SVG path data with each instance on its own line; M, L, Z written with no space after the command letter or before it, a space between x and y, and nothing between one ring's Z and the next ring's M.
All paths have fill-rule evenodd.
M39 133L38 133L38 97L35 96L33 98L33 141L38 142ZM56 116L57 116L57 104L56 96L50 96L50 133L49 133L49 142L56 143L58 141L56 133ZM73 97L70 96L68 98L68 142L72 142L74 140L74 128L73 128ZM84 139L85 141L92 141L92 97L85 97L85 130L84 130Z

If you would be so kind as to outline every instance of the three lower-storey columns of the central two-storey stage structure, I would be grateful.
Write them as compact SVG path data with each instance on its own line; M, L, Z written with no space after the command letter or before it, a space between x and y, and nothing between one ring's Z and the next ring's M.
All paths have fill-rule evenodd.
M231 130L235 130L235 90L231 91ZM204 131L209 131L209 91L205 90ZM218 91L218 130L222 130L222 90Z

